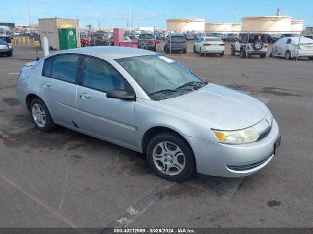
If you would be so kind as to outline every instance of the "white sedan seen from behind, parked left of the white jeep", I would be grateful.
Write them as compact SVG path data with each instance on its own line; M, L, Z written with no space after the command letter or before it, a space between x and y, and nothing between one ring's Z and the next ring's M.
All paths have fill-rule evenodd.
M201 37L194 44L194 52L199 53L200 56L207 54L224 55L225 44L218 37Z

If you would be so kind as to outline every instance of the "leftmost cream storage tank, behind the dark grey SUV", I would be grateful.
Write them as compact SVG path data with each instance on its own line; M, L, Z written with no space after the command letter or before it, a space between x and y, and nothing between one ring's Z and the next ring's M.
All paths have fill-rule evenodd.
M196 31L203 32L205 26L205 19L185 18L185 19L168 19L166 20L167 31Z

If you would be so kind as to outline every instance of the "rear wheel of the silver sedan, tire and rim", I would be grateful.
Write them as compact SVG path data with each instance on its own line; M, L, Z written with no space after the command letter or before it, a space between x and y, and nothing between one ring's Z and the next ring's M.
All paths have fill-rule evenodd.
M55 129L56 124L42 100L35 98L30 102L30 115L40 131L48 132Z

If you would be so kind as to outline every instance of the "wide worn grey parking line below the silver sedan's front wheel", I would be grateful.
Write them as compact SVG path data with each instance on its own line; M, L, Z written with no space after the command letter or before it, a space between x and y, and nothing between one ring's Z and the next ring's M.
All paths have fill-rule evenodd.
M134 221L136 217L141 215L149 206L154 204L161 196L163 196L175 182L164 180L160 185L154 187L149 193L141 197L132 206L130 206L126 211L124 211L117 219L112 220L106 228L125 228L131 222ZM99 234L106 233L103 229Z

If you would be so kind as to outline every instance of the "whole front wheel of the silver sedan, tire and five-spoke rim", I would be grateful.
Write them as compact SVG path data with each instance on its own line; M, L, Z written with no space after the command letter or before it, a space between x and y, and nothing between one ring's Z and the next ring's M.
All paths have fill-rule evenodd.
M153 137L147 147L147 160L157 176L182 181L195 169L193 152L179 135L163 132Z

